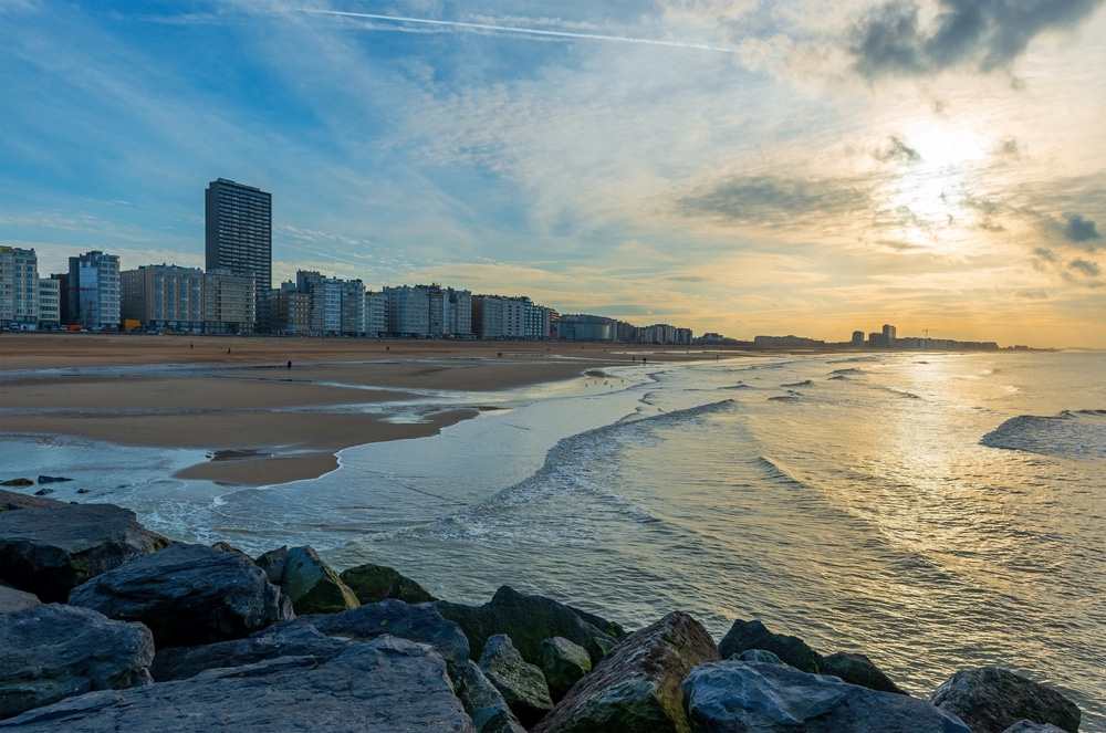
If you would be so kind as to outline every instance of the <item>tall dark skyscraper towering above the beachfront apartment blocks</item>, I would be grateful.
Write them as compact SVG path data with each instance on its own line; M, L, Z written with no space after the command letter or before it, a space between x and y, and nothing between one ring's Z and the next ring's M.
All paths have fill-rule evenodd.
M206 269L252 274L258 331L267 333L272 289L272 195L220 178L207 189Z

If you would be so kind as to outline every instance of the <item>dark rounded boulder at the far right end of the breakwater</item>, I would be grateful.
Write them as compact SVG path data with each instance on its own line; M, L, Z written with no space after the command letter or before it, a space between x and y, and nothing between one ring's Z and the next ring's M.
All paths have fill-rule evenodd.
M998 667L961 670L929 701L968 723L972 733L1002 733L1021 720L1075 733L1083 716L1061 693Z

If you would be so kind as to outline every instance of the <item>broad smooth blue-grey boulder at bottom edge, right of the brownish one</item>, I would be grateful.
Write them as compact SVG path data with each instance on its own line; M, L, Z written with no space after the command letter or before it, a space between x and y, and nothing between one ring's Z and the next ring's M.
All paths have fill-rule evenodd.
M697 733L972 733L922 700L768 662L697 667L684 702Z

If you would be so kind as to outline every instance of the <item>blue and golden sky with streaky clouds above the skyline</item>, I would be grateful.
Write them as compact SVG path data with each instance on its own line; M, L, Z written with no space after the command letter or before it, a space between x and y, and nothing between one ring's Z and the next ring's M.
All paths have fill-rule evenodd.
M0 243L1106 348L1104 0L0 0Z

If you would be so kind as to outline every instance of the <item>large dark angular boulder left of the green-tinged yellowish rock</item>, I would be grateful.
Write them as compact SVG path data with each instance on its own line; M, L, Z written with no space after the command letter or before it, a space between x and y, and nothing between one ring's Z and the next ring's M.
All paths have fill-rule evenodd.
M70 604L142 621L158 648L239 639L295 617L249 557L204 545L171 545L108 570L74 588Z

